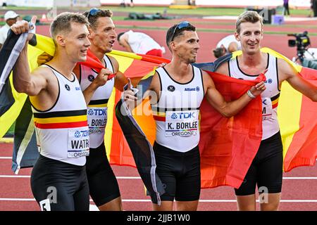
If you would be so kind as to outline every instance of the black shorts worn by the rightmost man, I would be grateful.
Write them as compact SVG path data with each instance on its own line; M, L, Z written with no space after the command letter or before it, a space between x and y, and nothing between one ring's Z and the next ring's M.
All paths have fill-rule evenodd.
M235 195L254 194L256 184L258 189L260 188L259 193L263 193L263 190L267 190L268 193L280 193L282 191L282 165L282 139L278 132L261 141L244 181L239 189L235 189Z

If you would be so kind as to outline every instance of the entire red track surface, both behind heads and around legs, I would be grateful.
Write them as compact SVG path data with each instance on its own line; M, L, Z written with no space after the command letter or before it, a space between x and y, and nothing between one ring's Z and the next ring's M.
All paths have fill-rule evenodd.
M232 20L217 20L220 23L232 23L232 25L204 25L198 22L201 19L190 19L193 24L197 23L199 28L219 28L219 29L234 29L234 22ZM169 27L173 25L175 21L164 21L164 23L156 22L143 22L143 21L119 21L117 25L131 25L137 24L138 26L149 27ZM287 23L290 24L290 23ZM299 22L294 25L315 25L316 22ZM303 32L309 30L303 28L292 27L272 27L266 26L264 30L270 31L287 31L287 32ZM117 29L117 33L124 31L123 29ZM170 52L165 44L166 31L161 30L135 30L142 31L149 34L151 37L166 47L166 54L164 57L170 58ZM309 30L316 32L316 30ZM39 34L49 35L48 26L38 26L37 32ZM216 46L217 42L228 35L228 33L213 33L213 32L199 32L200 46L199 56L197 62L211 62L214 57L211 53L212 49ZM289 38L284 34L265 34L262 46L270 47L275 51L278 51L288 58L292 58L296 55L296 49L287 46L287 40ZM313 47L317 47L317 37L311 37L311 43ZM114 49L123 50L117 43ZM35 200L32 200L32 192L30 190L30 178L29 177L3 177L4 175L14 175L11 171L11 159L3 159L4 157L12 156L12 144L0 144L0 210L39 210L39 207ZM123 198L124 210L151 210L151 203L149 198L144 195L144 187L141 179L131 179L131 176L139 176L137 170L133 167L120 167L113 166L113 170L118 177L121 195ZM21 175L30 175L31 169L21 169ZM124 179L120 176L125 176ZM126 177L126 176L130 176ZM282 202L280 203L280 210L317 210L317 167L299 167L293 169L292 172L284 174L282 187ZM293 177L296 179L287 179ZM300 179L304 178L306 179ZM133 188L131 188L133 187ZM15 198L17 198L15 200ZM213 189L204 189L201 191L201 203L199 203L198 210L237 210L235 203L234 191L230 187L219 187ZM136 202L135 200L143 200ZM228 202L228 200L230 200ZM310 200L311 202L305 202ZM291 201L291 202L287 202ZM92 203L93 204L93 203ZM259 207L259 205L258 205Z

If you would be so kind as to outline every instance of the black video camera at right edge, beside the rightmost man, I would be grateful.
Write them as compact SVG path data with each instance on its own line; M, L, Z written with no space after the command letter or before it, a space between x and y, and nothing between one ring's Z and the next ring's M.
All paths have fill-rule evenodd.
M287 34L287 36L296 38L288 40L288 46L297 46L297 59L299 59L302 63L304 60L304 53L311 44L311 40L308 37L308 32L304 31L302 34Z

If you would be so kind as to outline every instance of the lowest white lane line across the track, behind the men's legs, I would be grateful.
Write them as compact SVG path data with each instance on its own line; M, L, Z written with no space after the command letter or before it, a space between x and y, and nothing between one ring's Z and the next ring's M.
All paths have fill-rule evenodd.
M24 202L33 202L35 198L0 198L0 201L24 201ZM92 199L89 200L92 202ZM151 200L149 199L123 199L125 203L150 203ZM209 199L201 199L199 200L200 203L236 203L237 200L209 200ZM259 203L259 200L256 200ZM281 203L317 203L317 200L280 200Z

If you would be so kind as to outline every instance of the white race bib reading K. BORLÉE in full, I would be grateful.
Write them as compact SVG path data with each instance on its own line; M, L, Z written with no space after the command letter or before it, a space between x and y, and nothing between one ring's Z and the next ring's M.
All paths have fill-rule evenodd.
M199 110L166 111L165 136L195 136Z

